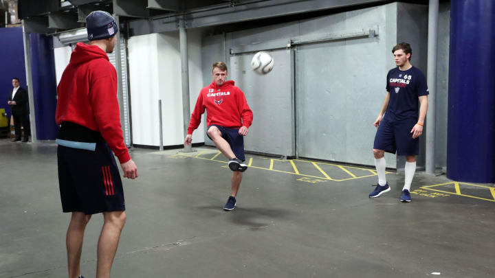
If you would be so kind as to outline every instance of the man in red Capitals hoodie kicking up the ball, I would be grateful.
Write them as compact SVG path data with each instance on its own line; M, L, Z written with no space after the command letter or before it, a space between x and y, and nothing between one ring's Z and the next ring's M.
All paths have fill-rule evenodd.
M236 205L236 195L242 181L242 173L248 169L245 165L244 139L252 124L253 114L245 100L243 91L234 86L234 81L227 78L227 65L223 62L213 64L213 81L210 86L201 89L192 112L188 134L184 143L192 142L192 131L201 124L201 115L208 111L206 124L208 137L229 160L232 170L232 191L223 207L231 211Z

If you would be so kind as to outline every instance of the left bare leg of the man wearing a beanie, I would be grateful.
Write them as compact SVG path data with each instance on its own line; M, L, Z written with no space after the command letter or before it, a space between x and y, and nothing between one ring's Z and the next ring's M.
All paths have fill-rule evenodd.
M83 251L84 231L90 218L90 215L87 216L82 212L72 213L65 238L69 278L76 278L80 275L80 255L81 251Z

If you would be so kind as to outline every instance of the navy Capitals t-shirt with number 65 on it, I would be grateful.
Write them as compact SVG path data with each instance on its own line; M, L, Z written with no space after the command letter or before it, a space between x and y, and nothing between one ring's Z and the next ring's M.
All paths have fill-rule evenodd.
M407 71L396 67L388 71L386 90L390 92L390 100L385 115L397 121L409 117L417 118L418 97L428 95L426 78L417 67L411 67Z

